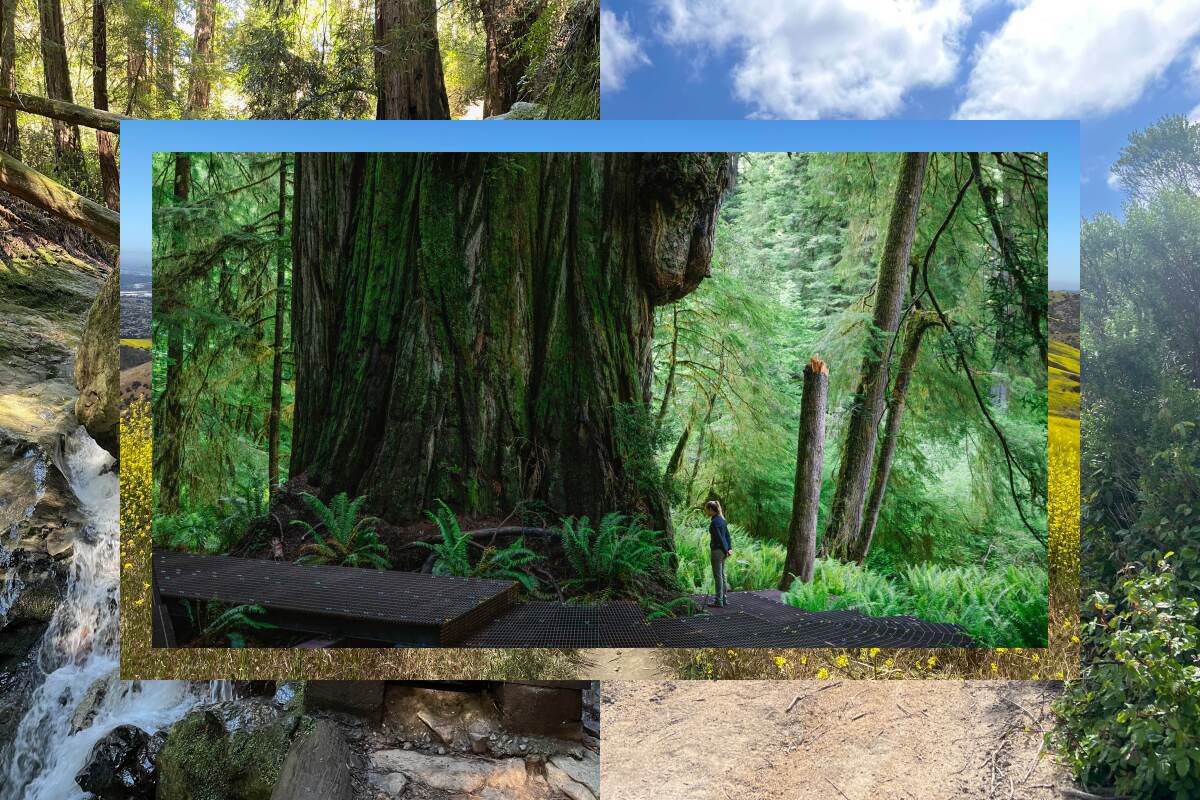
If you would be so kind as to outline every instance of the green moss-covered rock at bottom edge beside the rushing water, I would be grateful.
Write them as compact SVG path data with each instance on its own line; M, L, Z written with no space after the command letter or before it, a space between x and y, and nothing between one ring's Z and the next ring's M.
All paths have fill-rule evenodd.
M158 800L270 800L293 741L312 724L265 699L197 709L158 753Z

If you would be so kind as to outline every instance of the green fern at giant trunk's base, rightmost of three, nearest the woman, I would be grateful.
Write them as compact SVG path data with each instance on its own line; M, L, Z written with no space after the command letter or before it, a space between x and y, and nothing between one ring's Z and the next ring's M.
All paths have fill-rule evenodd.
M587 517L563 518L563 553L575 571L575 577L563 582L563 589L613 595L636 591L646 578L665 578L671 554L660 536L619 513L605 515L599 529L592 528Z

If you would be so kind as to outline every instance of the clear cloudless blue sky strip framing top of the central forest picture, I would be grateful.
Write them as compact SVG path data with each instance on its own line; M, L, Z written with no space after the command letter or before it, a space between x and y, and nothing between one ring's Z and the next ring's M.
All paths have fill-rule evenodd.
M1050 154L1050 275L1079 264L1079 126L1022 121L248 122L121 125L121 264L150 263L152 152L295 151L994 151Z

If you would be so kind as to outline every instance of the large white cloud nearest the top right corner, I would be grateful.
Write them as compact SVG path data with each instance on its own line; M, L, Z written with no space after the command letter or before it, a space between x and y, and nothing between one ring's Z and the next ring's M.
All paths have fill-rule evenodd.
M974 53L967 119L1075 119L1135 103L1200 32L1200 0L1026 0Z

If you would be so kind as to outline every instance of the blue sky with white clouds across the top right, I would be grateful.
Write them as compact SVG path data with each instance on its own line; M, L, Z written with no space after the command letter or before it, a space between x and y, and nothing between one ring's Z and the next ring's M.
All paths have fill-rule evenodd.
M1200 113L1200 0L605 0L601 25L605 119L1080 120L1085 216L1120 215L1130 132Z

